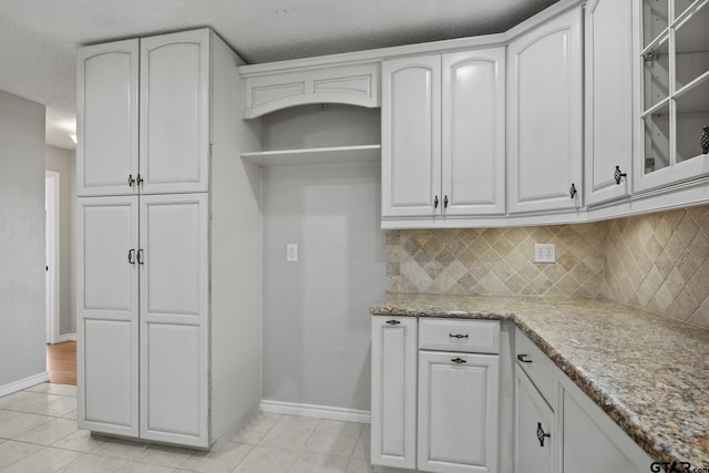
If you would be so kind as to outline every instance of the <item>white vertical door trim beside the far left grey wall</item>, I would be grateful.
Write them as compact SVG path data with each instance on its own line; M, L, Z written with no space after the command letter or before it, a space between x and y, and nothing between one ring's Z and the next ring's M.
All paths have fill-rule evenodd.
M56 343L59 339L59 288L60 288L60 246L59 246L59 173L44 171L44 208L47 212L45 261L49 270L45 276L45 317L47 342Z

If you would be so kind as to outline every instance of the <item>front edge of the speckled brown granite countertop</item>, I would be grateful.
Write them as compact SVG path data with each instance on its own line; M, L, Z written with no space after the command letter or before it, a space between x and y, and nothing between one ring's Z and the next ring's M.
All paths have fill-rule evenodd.
M670 445L660 441L646 426L636 414L625 408L618 400L608 395L578 367L564 358L552 345L549 345L534 329L527 326L521 317L511 311L480 311L480 310L444 310L444 309L405 309L392 306L372 306L372 316L391 317L436 317L460 318L479 320L511 320L553 362L566 374L588 398L596 403L613 421L635 441L653 460L657 462L685 462L687 459L679 455Z

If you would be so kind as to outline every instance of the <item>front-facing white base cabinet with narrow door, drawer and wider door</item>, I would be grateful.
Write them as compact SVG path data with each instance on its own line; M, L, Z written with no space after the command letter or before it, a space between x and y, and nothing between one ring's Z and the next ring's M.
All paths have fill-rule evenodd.
M500 330L491 320L372 317L376 471L499 472Z

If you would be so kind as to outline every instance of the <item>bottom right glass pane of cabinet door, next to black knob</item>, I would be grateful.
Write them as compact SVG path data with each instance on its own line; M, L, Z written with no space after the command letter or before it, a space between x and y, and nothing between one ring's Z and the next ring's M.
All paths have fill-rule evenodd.
M676 113L677 162L681 163L702 155L702 143L709 140L703 131L709 127L709 78L677 97Z

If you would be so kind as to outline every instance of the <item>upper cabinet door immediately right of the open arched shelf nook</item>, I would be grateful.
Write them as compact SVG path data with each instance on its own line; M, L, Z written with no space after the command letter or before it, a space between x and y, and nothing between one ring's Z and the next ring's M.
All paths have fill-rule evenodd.
M384 61L381 107L382 217L439 214L441 56Z

